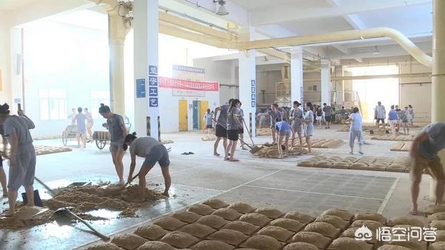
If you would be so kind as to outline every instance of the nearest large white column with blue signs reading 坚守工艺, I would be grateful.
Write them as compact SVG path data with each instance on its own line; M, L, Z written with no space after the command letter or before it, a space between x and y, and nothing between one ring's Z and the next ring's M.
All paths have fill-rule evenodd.
M160 140L157 70L159 0L134 0L133 6L136 133Z

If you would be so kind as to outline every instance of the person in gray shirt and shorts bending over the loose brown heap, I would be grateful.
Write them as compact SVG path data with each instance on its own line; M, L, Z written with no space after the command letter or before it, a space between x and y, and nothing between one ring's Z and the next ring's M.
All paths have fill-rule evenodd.
M122 149L126 151L130 147L131 163L130 172L128 176L128 183L131 183L134 168L136 167L136 156L145 158L144 163L139 170L139 199L138 201L145 201L145 176L148 172L159 163L161 166L162 175L164 177L165 190L163 195L168 197L168 190L172 184L172 179L170 178L170 172L168 167L170 166L170 158L168 156L168 151L165 149L164 145L151 138L149 136L137 138L136 133L129 134L125 137L124 145Z

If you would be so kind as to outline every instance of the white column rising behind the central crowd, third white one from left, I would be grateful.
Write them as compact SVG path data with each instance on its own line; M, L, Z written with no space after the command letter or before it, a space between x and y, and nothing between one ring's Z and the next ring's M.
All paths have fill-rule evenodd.
M303 50L291 48L291 102L303 103Z

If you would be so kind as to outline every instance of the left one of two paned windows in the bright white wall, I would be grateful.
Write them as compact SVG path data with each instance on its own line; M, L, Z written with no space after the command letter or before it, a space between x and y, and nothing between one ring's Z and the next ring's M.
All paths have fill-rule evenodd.
M40 120L67 119L67 91L39 90Z

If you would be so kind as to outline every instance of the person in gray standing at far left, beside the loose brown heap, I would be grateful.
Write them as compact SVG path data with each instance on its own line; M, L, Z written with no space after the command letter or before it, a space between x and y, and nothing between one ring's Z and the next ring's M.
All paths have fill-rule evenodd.
M0 106L0 125L3 125L4 134L10 144L10 167L8 180L9 210L5 216L13 216L15 213L15 201L17 190L23 185L26 191L26 206L34 206L34 174L35 174L35 149L33 138L29 129L35 128L33 121L19 110L17 115L10 115L8 104Z

